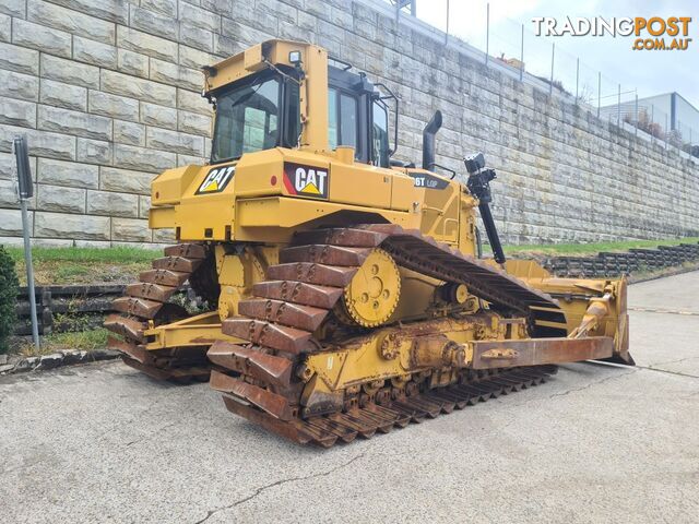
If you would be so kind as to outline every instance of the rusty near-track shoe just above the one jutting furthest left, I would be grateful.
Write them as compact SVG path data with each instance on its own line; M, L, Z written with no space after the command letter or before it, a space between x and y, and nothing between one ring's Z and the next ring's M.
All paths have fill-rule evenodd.
M309 341L311 334L308 331L276 325L263 320L234 317L224 320L222 331L226 335L237 336L253 344L269 346L295 355L310 349Z

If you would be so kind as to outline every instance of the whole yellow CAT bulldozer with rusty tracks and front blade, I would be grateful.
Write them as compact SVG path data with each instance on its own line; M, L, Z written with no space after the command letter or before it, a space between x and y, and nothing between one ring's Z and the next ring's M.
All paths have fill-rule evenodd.
M230 412L322 446L538 384L560 362L632 364L625 279L506 260L483 155L465 183L436 172L439 111L418 168L392 158L398 98L320 47L270 40L203 72L211 159L152 182L150 225L180 243L105 323L126 364L210 380ZM171 300L185 287L206 312Z

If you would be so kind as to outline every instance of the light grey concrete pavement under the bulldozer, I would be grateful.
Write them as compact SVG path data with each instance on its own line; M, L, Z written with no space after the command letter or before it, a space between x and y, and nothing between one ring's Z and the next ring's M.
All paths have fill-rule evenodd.
M699 272L631 286L637 368L564 366L324 451L120 362L1 378L0 520L696 522L698 290Z

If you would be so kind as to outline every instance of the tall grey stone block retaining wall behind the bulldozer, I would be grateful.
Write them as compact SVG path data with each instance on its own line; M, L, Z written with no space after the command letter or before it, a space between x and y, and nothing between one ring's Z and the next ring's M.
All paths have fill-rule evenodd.
M199 69L268 38L318 43L401 98L398 157L420 158L445 115L438 162L498 170L506 242L661 238L699 231L695 160L600 121L474 58L459 41L369 0L3 0L0 242L19 243L11 141L26 134L43 245L152 245L149 184L205 162Z

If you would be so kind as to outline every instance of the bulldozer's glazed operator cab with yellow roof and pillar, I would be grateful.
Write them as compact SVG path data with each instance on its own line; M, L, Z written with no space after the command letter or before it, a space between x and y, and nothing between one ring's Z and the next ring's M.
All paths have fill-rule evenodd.
M366 75L351 72L344 62L325 66L325 85L315 81L321 76L316 68L328 62L327 57L311 59L319 51L324 55L308 44L272 40L237 56L241 60L204 69L209 86L204 96L215 108L211 164L273 147L332 152L347 146L354 148L355 160L389 167L389 111L383 97ZM226 74L232 82L214 82ZM319 136L322 130L315 128L327 130L324 140Z

